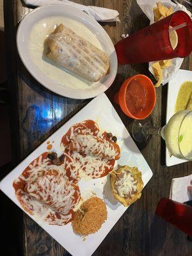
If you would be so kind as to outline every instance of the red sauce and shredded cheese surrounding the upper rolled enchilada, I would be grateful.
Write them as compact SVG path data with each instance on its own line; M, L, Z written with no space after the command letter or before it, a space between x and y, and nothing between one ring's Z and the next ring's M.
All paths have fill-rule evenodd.
M111 136L107 135L108 132L99 134L99 126L93 120L85 120L79 124L72 125L61 139L61 148L63 147L65 154L65 170L67 171L68 179L77 183L81 177L86 179L104 177L113 170L115 159L89 156L83 152L68 150L71 139L79 134L98 136L98 138L111 141Z

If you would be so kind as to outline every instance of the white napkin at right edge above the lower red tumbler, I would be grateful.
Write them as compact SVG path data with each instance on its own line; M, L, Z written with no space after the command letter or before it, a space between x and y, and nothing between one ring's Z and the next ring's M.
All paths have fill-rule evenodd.
M188 191L188 186L191 185L192 174L180 178L172 179L170 188L170 199L180 203L192 200L192 196Z

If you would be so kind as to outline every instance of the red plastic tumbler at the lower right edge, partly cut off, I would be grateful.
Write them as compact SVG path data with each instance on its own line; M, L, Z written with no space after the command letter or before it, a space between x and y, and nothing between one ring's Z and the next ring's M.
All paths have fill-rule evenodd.
M168 198L162 198L156 214L192 237L192 207Z

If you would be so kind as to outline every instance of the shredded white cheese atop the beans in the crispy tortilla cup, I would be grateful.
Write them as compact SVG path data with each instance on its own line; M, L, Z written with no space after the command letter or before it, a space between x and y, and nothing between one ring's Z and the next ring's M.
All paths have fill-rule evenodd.
M137 180L134 180L131 172L123 171L120 175L116 178L115 190L120 197L124 198L136 192Z

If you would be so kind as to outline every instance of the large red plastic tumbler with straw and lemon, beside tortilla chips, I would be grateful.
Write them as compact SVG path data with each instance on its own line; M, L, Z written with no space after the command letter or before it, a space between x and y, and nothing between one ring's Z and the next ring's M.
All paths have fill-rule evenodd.
M173 49L169 29L177 29L178 43ZM115 45L120 64L143 63L184 58L192 51L192 22L186 12L177 11L154 24L120 40Z

